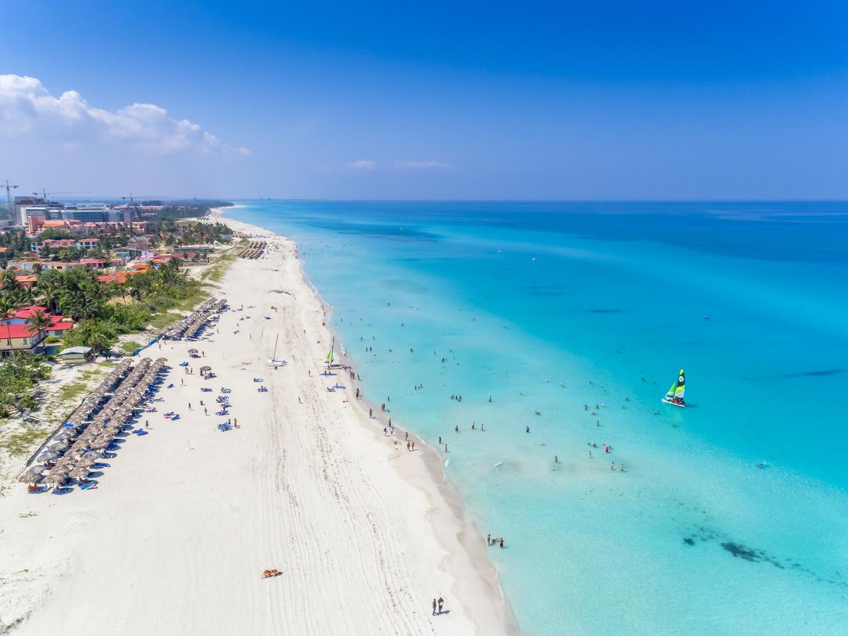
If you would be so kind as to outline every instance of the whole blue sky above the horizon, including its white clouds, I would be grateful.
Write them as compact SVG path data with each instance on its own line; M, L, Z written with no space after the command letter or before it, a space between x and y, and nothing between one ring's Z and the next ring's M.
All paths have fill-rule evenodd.
M0 177L232 198L848 198L845 3L639 4L12 0Z

